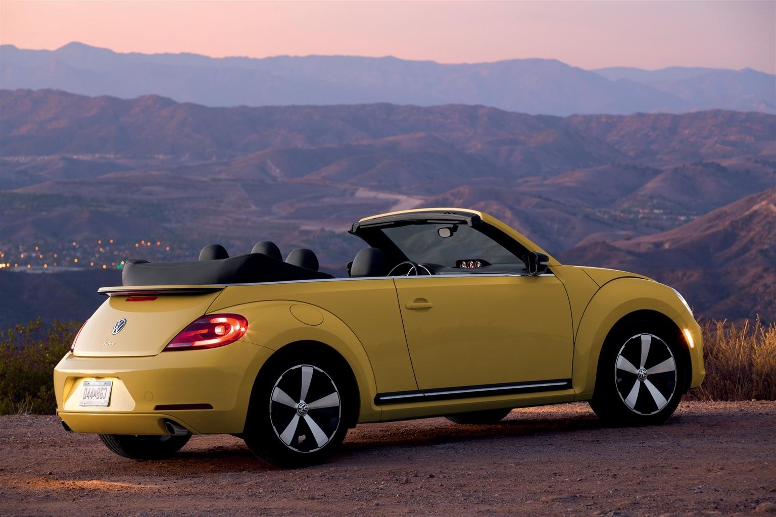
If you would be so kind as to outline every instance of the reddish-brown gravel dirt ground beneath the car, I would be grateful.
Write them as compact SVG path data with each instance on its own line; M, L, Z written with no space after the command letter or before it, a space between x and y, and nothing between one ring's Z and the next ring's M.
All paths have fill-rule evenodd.
M682 402L663 426L587 404L494 426L358 426L329 463L262 464L232 436L116 456L54 416L0 417L0 515L776 515L776 402Z

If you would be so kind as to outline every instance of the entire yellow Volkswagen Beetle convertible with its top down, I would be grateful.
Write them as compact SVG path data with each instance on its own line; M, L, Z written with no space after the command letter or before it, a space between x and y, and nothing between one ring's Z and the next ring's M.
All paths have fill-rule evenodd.
M232 434L301 467L363 422L493 423L589 401L613 425L657 424L703 380L700 329L666 285L560 264L467 209L375 215L350 233L365 248L345 278L269 242L127 260L54 370L65 429L135 459Z

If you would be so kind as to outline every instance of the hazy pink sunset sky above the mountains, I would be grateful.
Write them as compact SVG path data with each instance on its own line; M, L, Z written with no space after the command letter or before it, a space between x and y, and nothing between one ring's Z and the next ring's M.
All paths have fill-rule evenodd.
M0 0L0 43L71 41L214 57L555 58L776 73L776 0L734 2L32 2Z

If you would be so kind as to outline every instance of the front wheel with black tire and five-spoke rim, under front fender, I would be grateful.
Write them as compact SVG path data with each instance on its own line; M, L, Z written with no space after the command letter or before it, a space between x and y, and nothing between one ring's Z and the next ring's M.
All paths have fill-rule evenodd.
M653 426L679 405L685 353L678 330L632 322L612 330L598 360L591 408L615 426Z

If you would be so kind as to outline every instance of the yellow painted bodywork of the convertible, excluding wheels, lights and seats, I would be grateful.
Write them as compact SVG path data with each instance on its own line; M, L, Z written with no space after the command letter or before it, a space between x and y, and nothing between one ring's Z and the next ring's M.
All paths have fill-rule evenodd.
M391 212L362 222L447 211L476 215L525 250L546 254L471 210ZM587 400L606 337L641 311L687 329L694 346L687 348L689 386L681 388L702 382L700 329L671 288L637 274L565 266L549 255L547 262L549 272L538 276L462 271L103 288L109 298L54 371L57 412L83 433L165 435L166 420L192 433L243 433L262 367L295 343L320 343L345 360L359 389L358 422ZM148 292L158 298L128 301ZM189 323L223 313L248 321L236 342L163 351ZM112 334L121 319L126 325ZM79 405L92 380L113 381L106 407Z

